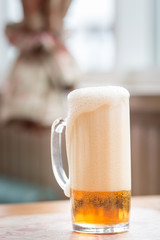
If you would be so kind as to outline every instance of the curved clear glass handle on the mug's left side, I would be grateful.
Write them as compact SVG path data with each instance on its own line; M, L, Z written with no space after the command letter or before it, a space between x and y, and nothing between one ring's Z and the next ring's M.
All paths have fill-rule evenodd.
M59 186L64 190L64 194L70 197L69 179L63 169L62 162L62 133L66 127L66 120L56 119L51 128L51 160L54 176Z

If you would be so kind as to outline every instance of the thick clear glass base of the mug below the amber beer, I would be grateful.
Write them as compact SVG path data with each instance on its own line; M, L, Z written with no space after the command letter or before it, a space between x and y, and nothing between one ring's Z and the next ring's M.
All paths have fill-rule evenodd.
M73 230L80 233L120 233L129 230L129 223L114 225L77 224L73 223Z

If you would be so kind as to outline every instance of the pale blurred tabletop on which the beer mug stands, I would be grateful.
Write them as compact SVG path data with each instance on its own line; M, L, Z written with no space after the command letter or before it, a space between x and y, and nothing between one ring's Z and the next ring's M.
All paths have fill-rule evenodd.
M160 239L160 196L132 197L132 212L133 217L131 214L131 227L129 232L109 235L95 235L72 232L69 201L4 204L0 205L0 239L20 239L19 235L16 235L19 234L19 232L15 232L15 229L17 226L20 228L22 223L30 221L29 219L32 219L32 224L27 225L30 227L21 229L22 232L26 231L25 236L20 235L22 236L21 239L39 239L38 237L36 238L37 235L34 235L37 231L37 226L33 227L35 222L41 226L40 239L44 240ZM9 235L4 237L2 234L5 232L5 227L8 227L7 233ZM1 229L3 233L1 233ZM21 230L16 229L16 231ZM22 232L20 232L20 234L22 234Z

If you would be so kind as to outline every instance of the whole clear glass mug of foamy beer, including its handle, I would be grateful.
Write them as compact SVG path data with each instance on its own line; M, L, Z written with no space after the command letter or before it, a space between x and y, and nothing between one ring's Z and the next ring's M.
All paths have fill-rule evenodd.
M67 178L61 157L66 131ZM122 87L77 89L68 116L52 125L53 172L70 197L73 230L116 233L129 228L131 199L129 92Z

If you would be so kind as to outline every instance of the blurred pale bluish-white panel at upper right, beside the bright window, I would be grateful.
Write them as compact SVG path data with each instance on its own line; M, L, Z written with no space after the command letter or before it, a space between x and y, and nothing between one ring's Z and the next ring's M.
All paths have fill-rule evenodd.
M118 69L137 70L154 65L153 3L154 0L116 1Z

